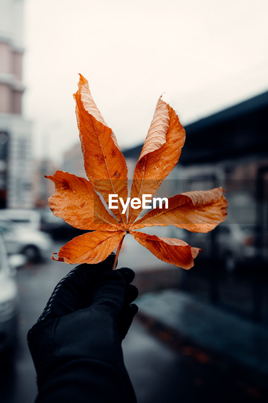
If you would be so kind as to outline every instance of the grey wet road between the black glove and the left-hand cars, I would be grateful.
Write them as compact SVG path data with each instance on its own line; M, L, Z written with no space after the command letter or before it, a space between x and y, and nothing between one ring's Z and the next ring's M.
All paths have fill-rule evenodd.
M0 396L4 403L26 403L35 399L35 369L27 347L27 332L40 316L56 283L66 274L66 265L47 260L44 263L27 264L18 270L20 313L19 340L14 363L4 371Z

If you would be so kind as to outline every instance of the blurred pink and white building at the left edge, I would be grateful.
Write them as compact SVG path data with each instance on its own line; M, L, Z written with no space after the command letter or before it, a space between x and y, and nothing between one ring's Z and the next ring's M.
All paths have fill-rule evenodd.
M31 122L22 116L23 0L0 2L0 208L31 208Z

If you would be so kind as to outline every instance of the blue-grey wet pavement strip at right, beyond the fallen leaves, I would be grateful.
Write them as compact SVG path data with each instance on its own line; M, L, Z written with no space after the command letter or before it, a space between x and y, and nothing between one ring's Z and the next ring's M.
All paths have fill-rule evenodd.
M222 355L259 376L268 376L266 326L175 289L147 293L137 303L143 317L160 321L205 351Z

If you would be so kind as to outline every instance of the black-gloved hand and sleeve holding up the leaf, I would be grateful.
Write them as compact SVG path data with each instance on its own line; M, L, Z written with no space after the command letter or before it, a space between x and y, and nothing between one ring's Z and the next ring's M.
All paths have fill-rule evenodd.
M37 372L36 402L136 402L121 342L138 311L129 268L115 255L81 264L56 286L28 332Z

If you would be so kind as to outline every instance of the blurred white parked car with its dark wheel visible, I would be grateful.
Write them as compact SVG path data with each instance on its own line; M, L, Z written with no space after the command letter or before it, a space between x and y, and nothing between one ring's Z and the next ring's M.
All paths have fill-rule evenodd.
M23 253L31 261L49 256L52 242L46 233L0 218L0 235L8 254Z

